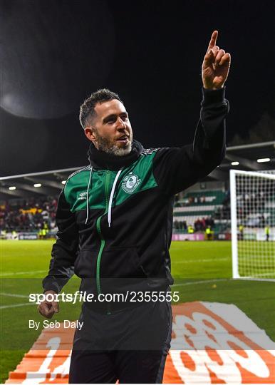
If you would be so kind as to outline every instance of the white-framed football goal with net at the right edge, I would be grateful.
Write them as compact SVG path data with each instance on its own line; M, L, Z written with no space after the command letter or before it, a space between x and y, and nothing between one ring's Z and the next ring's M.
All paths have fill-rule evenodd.
M275 279L275 171L230 170L234 278Z

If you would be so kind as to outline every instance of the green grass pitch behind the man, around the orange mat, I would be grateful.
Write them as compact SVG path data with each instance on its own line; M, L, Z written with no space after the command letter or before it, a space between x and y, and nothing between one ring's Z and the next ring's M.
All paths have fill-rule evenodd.
M28 319L43 320L37 305L28 304L28 294L42 292L52 244L52 240L1 241L1 382L41 333L41 328L28 328ZM231 242L172 242L170 253L172 289L180 292L180 302L236 304L275 341L274 282L231 279ZM75 292L79 283L74 276L64 289ZM61 303L55 319L78 319L80 309L80 304Z

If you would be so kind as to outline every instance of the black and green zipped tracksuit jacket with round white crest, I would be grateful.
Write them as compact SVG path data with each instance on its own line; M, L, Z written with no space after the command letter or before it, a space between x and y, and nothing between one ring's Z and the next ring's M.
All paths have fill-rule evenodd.
M90 165L68 178L58 200L44 290L60 292L73 273L94 294L172 284L173 197L222 162L228 111L224 89L203 90L192 145L144 149L134 140L131 153L118 157L91 144Z

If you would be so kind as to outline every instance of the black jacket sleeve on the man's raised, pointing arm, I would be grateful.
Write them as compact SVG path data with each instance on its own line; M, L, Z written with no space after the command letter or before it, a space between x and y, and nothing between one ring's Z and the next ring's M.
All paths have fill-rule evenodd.
M160 148L153 160L157 185L167 195L180 193L206 177L225 155L225 117L229 103L225 89L202 89L200 119L191 145Z

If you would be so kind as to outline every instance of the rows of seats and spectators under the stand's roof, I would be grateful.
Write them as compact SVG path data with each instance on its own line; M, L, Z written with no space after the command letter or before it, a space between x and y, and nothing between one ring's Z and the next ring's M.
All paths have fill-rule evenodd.
M207 188L217 183L207 183ZM175 234L205 232L210 227L215 234L229 231L230 193L220 190L197 191L194 185L185 195L177 196L173 210L173 232ZM247 199L250 199L247 197ZM251 198L252 199L252 198ZM2 200L0 203L0 232L39 232L46 228L47 234L56 232L55 212L58 195L39 196L28 199ZM239 201L239 197L238 197ZM260 217L259 207L259 217ZM253 225L247 221L247 226Z

